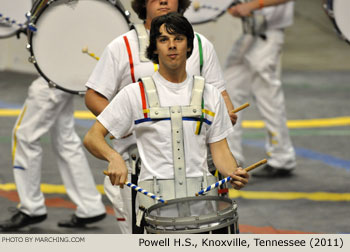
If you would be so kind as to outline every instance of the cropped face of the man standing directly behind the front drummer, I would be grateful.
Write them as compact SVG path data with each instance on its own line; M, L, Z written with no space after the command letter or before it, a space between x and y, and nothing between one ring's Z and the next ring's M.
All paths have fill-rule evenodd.
M178 0L146 0L146 18L152 21L155 17L177 12L178 8Z

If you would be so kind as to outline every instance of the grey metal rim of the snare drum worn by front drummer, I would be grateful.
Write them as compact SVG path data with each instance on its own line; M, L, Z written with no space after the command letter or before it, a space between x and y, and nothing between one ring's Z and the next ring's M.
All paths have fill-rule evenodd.
M215 221L219 221L220 219L230 217L232 216L232 213L235 215L235 218L237 216L237 203L229 198L226 197L219 197L219 196L199 196L199 197L187 197L187 198L178 198L178 199L172 199L169 200L167 205L176 204L179 202L183 202L184 199L187 201L199 201L199 200L215 200L215 201L225 201L230 203L231 205L227 208L224 208L222 210L212 212L209 214L204 214L200 216L189 216L189 217L161 217L161 216L153 216L150 215L150 212L152 212L155 209L161 208L162 206L165 206L164 203L158 203L155 205L152 205L148 209L145 210L145 221L147 224L150 225L160 225L163 227L171 227L176 225L200 225L200 224L210 224L214 223Z

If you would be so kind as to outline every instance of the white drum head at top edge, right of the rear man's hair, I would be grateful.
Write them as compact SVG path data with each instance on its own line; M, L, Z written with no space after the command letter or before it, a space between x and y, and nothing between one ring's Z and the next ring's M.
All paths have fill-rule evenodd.
M184 16L192 24L213 21L224 14L232 2L232 0L193 0Z

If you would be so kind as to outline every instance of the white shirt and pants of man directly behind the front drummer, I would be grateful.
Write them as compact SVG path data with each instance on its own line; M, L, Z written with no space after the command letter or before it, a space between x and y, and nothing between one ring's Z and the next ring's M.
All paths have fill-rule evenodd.
M191 75L202 75L207 83L216 86L219 92L222 92L225 90L225 83L213 45L202 35L199 37L202 44L202 73L200 71L200 47L196 37L193 53L187 60L187 71ZM141 62L137 33L131 30L113 40L106 47L86 86L111 101L123 87L136 82L141 77L152 75L156 69L157 67L151 61ZM113 147L122 154L125 160L128 160L127 149L135 143L134 136L131 136L113 141ZM128 179L130 180L130 174ZM114 205L121 232L132 233L130 188L121 190L119 187L114 187L108 177L105 179L104 186L108 198Z

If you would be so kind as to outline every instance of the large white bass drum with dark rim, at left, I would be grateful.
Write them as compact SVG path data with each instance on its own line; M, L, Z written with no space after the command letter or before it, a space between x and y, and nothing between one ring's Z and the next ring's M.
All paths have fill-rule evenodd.
M129 30L119 1L36 1L27 29L30 61L50 86L82 94L98 56Z

